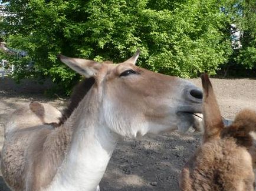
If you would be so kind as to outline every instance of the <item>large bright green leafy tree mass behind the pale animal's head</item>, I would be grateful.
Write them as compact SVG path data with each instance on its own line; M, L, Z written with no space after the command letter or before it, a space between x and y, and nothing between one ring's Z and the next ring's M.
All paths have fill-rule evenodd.
M139 65L182 77L214 74L232 54L231 17L221 11L222 1L8 2L5 40L29 55L14 60L20 66L15 76L50 77L67 92L80 76L57 60L58 53L120 62L140 48ZM34 70L27 71L25 59L35 62Z

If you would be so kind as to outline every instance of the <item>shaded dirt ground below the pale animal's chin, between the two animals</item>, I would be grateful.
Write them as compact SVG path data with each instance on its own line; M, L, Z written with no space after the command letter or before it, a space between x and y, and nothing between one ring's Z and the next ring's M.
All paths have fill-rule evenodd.
M200 137L172 132L125 139L113 153L101 190L179 190L180 170L198 147Z

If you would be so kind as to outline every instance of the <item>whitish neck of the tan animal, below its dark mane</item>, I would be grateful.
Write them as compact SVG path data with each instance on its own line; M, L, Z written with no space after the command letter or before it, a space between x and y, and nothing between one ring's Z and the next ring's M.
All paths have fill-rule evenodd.
M100 103L92 97L87 95L64 123L74 128L70 147L47 190L96 190L106 170L119 136L104 125Z

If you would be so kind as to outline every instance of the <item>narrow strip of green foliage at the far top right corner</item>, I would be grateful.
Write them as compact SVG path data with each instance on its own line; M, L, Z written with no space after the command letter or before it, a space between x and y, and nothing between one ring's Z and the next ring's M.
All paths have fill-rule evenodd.
M241 47L234 50L229 64L238 63L247 69L256 69L256 1L229 0L225 4L231 23L240 31Z

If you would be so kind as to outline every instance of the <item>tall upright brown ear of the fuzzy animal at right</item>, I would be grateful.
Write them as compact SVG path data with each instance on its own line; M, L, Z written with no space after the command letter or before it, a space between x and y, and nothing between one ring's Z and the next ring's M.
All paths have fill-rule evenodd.
M209 139L220 136L224 123L222 122L221 112L209 76L204 74L201 79L204 89L203 114L205 132L203 141L206 142Z

